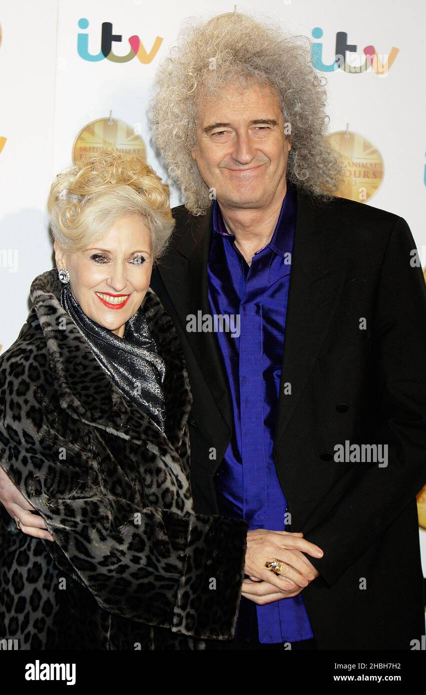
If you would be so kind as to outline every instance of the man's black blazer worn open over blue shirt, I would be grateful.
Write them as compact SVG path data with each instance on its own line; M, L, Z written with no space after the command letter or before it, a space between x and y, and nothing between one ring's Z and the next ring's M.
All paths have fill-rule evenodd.
M173 215L151 285L187 361L194 503L217 514L228 383L216 335L186 330L189 314L210 313L212 206ZM415 249L403 218L298 189L274 462L290 530L324 550L309 556L320 575L303 589L319 649L409 650L425 633L416 494L426 481L426 285ZM337 463L345 441L387 444L388 465Z

